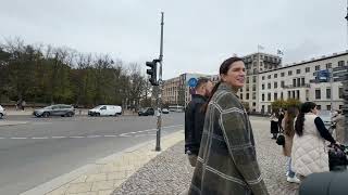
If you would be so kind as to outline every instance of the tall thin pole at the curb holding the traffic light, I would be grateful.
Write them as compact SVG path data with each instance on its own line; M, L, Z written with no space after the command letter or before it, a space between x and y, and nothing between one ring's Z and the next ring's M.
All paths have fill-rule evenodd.
M158 92L158 115L156 132L156 151L161 151L161 128L162 128L162 62L163 62L163 25L164 13L161 12L161 46L160 46L160 69L159 69L159 92Z

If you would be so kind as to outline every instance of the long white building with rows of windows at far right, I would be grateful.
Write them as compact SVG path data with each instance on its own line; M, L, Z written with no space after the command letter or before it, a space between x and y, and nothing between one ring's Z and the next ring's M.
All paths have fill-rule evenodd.
M315 102L320 109L331 109L331 95L333 95L333 109L344 106L343 83L334 79L330 82L315 82L316 72L335 69L348 65L348 51L333 53L321 57L293 63L276 69L259 73L259 96L256 110L270 113L271 103L278 99L298 99L301 102Z

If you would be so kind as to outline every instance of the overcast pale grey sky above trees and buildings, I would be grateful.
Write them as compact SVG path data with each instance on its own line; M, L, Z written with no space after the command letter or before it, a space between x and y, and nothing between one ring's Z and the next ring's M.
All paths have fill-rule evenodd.
M284 52L298 62L347 49L346 0L0 0L0 41L105 53L146 69L159 56L163 78L217 74L236 53Z

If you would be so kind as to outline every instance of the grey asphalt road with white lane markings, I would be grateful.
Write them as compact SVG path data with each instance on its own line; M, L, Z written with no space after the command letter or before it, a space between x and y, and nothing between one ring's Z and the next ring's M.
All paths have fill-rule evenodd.
M111 154L156 139L157 117L33 118L0 127L0 194L18 194ZM184 114L163 115L162 135L184 129Z

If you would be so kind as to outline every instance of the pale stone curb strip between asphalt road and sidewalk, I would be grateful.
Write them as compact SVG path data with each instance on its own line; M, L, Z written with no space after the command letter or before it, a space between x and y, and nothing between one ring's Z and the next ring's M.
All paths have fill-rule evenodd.
M175 131L175 132L173 132L171 134L167 134L167 135L163 136L161 140L169 139L173 134L175 134L175 133L177 133L179 131L183 131L183 130L181 129L181 130ZM120 157L120 156L122 156L122 155L124 155L126 153L130 153L130 152L137 151L137 150L144 147L145 145L152 144L152 143L154 143L154 141L156 141L156 139L147 141L147 142L144 142L144 143L140 143L138 145L135 145L133 147L126 148L126 150L121 151L119 153L112 154L112 155L107 156L104 158L97 159L92 164L87 164L87 165L85 165L85 166L83 166L80 168L77 168L77 169L69 172L69 173L64 173L64 174L62 174L60 177L57 177L57 178L52 179L49 182L46 182L44 184L39 184L38 186L36 186L34 188L30 188L28 191L25 191L25 192L21 193L21 195L38 195L38 194L50 193L50 192L63 186L64 184L69 184L70 182L74 181L78 177L80 177L83 174L87 174L88 172L90 172L94 169L96 169L98 166L107 165L112 159L115 159L116 157ZM158 154L161 154L164 151L162 150ZM156 156L153 158L156 158Z

